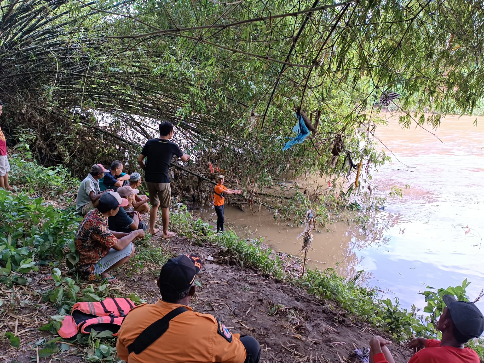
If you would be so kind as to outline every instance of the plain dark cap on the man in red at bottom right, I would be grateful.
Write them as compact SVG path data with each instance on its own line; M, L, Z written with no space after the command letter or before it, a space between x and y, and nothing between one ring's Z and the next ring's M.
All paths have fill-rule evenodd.
M484 317L473 302L457 301L452 295L442 296L451 313L455 328L466 338L479 338L484 332Z

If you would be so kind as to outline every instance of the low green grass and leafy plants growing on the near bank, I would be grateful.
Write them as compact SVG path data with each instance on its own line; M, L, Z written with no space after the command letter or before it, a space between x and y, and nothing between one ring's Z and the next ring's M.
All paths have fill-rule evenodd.
M14 170L12 184L15 184L19 182L15 177L19 172L17 165L24 167L25 164L19 164L14 158L12 165ZM76 182L75 179L69 179L69 175L64 175L63 170L56 169L55 177L50 178L42 173L42 166L34 163L29 164L28 168L30 168L28 173L30 182L36 183L36 178L42 178L46 190L59 188L55 190L60 198L62 198L62 189L57 177L61 176L64 180L63 185L75 185ZM31 189L31 191L36 190ZM65 192L66 189L63 191ZM0 295L0 314L15 311L19 305L31 306L35 309L48 306L55 314L51 315L49 320L40 319L39 328L41 331L52 333L55 333L60 326L62 317L70 313L74 303L100 301L106 296L112 297L122 293L107 285L86 287L86 284L77 280L75 275L66 275L62 272L67 271L64 262L70 264L76 262L74 236L82 220L76 214L72 200L66 198L64 202L71 207L62 210L46 203L42 197L32 198L25 193L14 195L0 190L0 220L5 221L0 226L0 282L6 287ZM423 309L426 315L422 317L420 309L415 306L410 310L402 309L398 299L393 301L381 299L376 290L361 287L358 284L359 275L348 279L339 276L333 269L326 269L309 270L303 277L294 276L283 269L283 261L272 254L270 249L264 248L261 241L241 239L233 231L215 235L209 224L200 219L194 219L184 206L180 210L173 211L171 226L179 234L194 242L220 247L219 254L230 257L231 263L253 268L304 288L308 293L319 298L329 299L346 310L349 318L359 318L369 322L391 333L395 340L399 341L407 340L412 333L417 336L439 337L434 324L443 310L441 297L445 293L450 293L459 299L468 299L466 287L469 283L466 280L462 286L457 287L446 289L428 287L428 290L423 292L427 306ZM166 250L144 243L137 247L137 254L132 259L130 268L138 272L143 269L156 270L169 257ZM19 298L26 295L21 295L16 287L30 286L29 276L32 276L32 272L47 272L48 279L51 279L48 288L33 291L34 296L41 298L41 302L38 303L28 298L25 300ZM135 302L140 302L136 295L129 297ZM45 324L40 326L43 323ZM108 335L107 333L92 333L90 336L79 334L71 342L63 342L60 338L52 340L41 338L35 341L35 347L32 346L32 348L39 349L40 357L69 352L79 354L89 362L112 362L116 359L115 343ZM0 333L0 343L2 340L7 340L12 347L20 347L20 338L15 336L15 332ZM73 352L73 343L83 348ZM470 342L469 346L484 358L482 341Z

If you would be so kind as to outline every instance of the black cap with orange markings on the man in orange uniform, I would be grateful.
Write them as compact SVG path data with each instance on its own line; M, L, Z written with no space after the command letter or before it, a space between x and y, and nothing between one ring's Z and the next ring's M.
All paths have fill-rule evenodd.
M170 258L161 268L159 276L160 293L179 294L192 286L202 268L202 259L195 255L181 255Z

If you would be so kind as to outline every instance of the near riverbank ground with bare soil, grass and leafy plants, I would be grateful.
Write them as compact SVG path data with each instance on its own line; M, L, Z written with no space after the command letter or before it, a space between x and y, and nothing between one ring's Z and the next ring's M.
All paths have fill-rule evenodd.
M392 336L396 362L406 362L408 352L402 347L412 332L436 334L432 322L439 316L439 297L448 290L429 291L435 298L428 306L434 308L422 320L415 311L401 310L398 301L382 300L376 290L361 287L359 276L347 279L326 269L308 270L300 277L296 257L274 253L262 241L240 238L233 231L215 235L182 203L171 212L177 238L153 236L138 242L130 263L116 270L120 285L86 284L66 267L76 259L73 240L82 219L73 210L72 191L62 189L68 181L48 180L42 170L31 175L45 178L46 194L55 190L56 195L46 201L37 191L30 197L0 190L2 358L117 362L114 339L91 333L62 341L55 329L59 321L78 301L123 296L136 303L155 302L160 267L169 257L188 252L200 254L205 265L195 310L254 335L263 344L265 362L354 362L355 346L363 348L377 333ZM459 292L465 294L465 287Z

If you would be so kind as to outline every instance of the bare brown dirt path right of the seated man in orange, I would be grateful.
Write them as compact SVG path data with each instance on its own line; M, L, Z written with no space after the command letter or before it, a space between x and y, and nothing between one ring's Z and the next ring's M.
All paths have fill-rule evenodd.
M163 243L163 242L162 242ZM368 346L379 334L367 324L351 321L340 309L321 304L301 289L261 276L218 256L217 247L190 245L184 238L169 242L177 255L198 253L204 261L193 307L224 319L236 333L250 334L261 344L261 362L359 362L354 348ZM156 284L146 282L156 289ZM154 300L155 301L155 300ZM391 349L396 363L408 362L409 351Z

